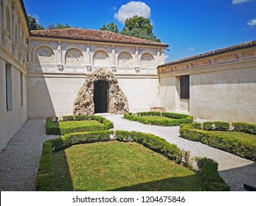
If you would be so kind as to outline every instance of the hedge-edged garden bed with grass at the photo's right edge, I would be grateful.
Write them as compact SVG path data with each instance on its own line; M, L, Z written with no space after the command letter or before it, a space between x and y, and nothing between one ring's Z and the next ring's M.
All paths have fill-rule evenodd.
M208 121L184 124L179 129L180 137L198 141L217 149L256 160L256 127L254 124Z

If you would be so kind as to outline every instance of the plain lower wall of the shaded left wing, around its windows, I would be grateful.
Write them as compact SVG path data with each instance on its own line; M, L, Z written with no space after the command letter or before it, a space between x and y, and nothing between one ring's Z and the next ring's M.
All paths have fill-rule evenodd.
M7 111L6 102L6 61L0 58L0 150L6 146L10 138L20 129L27 120L27 86L24 78L23 92L24 104L21 106L20 71L14 66L12 68L13 110Z

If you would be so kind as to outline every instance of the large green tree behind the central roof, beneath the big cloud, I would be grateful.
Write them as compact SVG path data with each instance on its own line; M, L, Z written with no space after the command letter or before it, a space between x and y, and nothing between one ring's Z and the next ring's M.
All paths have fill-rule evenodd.
M159 38L153 35L153 25L149 18L142 16L134 15L132 18L127 18L121 34L160 42Z

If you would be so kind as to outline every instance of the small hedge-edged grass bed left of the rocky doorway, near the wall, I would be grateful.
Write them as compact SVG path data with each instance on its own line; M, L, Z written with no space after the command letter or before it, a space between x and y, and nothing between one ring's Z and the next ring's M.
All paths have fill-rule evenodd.
M63 116L46 118L46 135L65 135L72 132L101 131L113 128L111 121L102 116Z

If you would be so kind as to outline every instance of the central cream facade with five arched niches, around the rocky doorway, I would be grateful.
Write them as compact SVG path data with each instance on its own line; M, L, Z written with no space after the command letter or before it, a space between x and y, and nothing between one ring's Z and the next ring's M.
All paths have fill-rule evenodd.
M28 53L29 117L72 115L86 74L100 68L117 77L131 112L159 106L156 66L164 63L165 46L31 37Z

